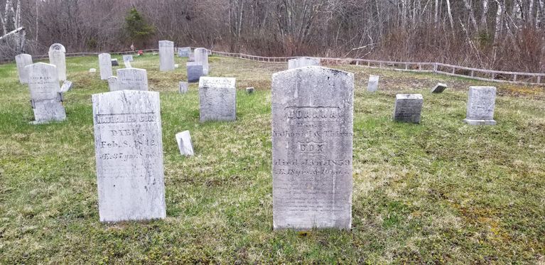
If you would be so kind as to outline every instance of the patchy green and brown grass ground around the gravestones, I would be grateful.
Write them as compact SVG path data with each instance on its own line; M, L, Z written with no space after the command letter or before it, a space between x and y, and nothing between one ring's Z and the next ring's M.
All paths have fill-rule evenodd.
M0 264L545 264L541 87L336 67L355 73L352 231L273 232L270 84L287 64L211 57L210 76L237 77L237 121L200 124L197 85L178 94L185 60L165 73L158 56L135 58L161 92L167 218L108 225L91 106L108 87L87 72L97 61L68 58L68 118L38 126L15 64L0 65ZM369 74L381 75L376 94ZM436 82L448 90L431 94ZM470 85L498 87L497 126L463 124ZM423 94L421 124L391 120L401 92ZM193 157L178 152L183 130Z

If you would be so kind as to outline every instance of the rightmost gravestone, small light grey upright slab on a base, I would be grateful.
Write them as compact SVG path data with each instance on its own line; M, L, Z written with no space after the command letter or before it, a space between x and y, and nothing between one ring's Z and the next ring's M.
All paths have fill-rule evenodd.
M495 104L496 87L470 87L468 112L463 121L469 125L496 125Z

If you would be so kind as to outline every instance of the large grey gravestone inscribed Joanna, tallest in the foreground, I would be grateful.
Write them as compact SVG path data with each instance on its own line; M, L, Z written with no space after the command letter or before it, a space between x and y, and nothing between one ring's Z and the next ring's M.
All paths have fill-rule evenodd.
M272 77L274 229L350 229L354 75L303 67Z

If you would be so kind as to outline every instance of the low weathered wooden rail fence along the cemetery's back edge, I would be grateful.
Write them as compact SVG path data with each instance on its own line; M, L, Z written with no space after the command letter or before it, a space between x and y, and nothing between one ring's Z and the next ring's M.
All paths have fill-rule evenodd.
M192 47L195 48L195 47ZM158 52L158 49L142 50L143 52ZM111 54L126 55L133 54L133 51L116 52ZM225 53L217 50L208 50L210 55L218 55L230 58L239 58L252 60L262 63L287 63L288 60L298 57L264 57L257 55L248 55L244 53ZM66 53L66 57L79 57L99 55L100 53ZM48 55L34 55L35 59L45 59ZM497 70L486 70L459 65L448 65L446 63L414 63L414 62L395 62L384 60L367 60L354 58L319 58L321 65L357 65L370 68L406 71L406 72L430 72L440 75L449 75L455 77L465 77L473 80L487 82L502 82L519 85L545 85L545 73L534 72L507 72ZM0 63L14 61L13 58L0 59Z

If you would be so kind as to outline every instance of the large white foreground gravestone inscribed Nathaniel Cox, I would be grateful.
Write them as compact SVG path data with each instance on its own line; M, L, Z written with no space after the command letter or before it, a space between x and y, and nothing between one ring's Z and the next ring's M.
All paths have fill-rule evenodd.
M100 222L166 217L159 93L92 95Z

